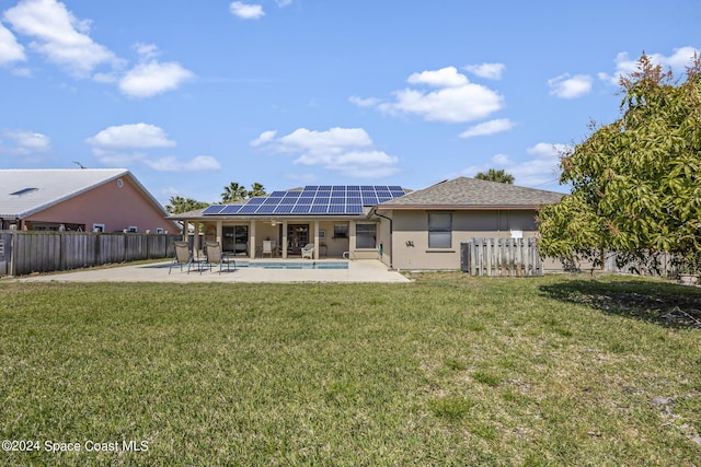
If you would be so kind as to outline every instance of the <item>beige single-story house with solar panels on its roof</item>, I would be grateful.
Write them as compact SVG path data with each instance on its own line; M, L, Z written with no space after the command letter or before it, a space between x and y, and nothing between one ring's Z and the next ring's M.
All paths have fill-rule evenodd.
M205 241L219 241L225 252L250 258L264 252L299 256L311 243L314 258L379 258L400 269L460 269L460 243L535 236L539 207L563 196L467 177L417 191L321 185L212 205L171 219L203 225ZM275 245L272 254L264 242Z

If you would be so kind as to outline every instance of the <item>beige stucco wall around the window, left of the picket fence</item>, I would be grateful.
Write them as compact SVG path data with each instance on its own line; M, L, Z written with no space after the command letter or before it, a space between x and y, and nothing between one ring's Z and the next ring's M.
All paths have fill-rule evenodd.
M436 211L452 214L450 248L428 247L426 211L393 211L392 262L399 269L460 269L460 244L472 237L510 237L512 230L524 237L537 233L536 211ZM387 262L387 261L386 261Z

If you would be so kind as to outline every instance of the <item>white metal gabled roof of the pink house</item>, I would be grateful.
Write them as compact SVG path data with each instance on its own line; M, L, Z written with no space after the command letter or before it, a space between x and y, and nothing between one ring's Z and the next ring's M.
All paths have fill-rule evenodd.
M128 178L153 207L163 207L126 168L0 170L0 218L24 219L117 178Z

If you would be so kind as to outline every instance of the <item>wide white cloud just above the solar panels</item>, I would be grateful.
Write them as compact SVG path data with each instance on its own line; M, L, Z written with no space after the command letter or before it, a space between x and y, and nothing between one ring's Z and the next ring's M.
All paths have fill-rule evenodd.
M277 139L273 131L266 131L252 144L264 145L275 154L297 154L295 165L320 166L347 177L378 178L399 172L399 157L374 149L361 128L299 128Z

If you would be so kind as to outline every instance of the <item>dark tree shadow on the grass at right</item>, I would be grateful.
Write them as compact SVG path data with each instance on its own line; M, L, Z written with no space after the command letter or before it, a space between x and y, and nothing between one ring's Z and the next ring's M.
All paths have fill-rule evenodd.
M701 328L701 289L668 282L571 280L541 285L566 303L677 328Z

